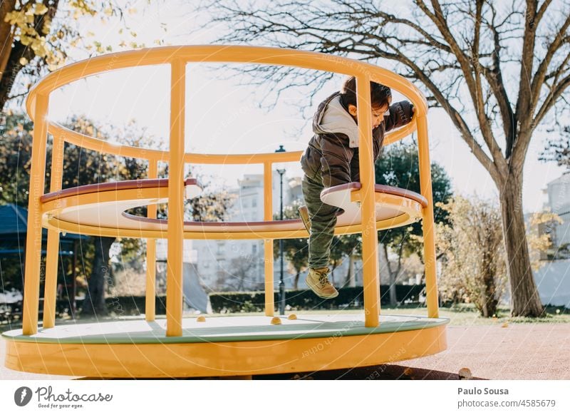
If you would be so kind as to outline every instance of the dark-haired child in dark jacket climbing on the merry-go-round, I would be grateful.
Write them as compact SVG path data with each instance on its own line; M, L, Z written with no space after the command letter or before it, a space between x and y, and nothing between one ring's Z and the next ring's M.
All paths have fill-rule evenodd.
M380 155L384 133L412 120L412 103L401 101L390 106L392 92L371 82L372 135L374 160ZM306 207L299 215L309 231L309 275L306 283L318 297L338 295L328 281L328 260L338 207L321 201L324 188L359 182L358 119L356 118L356 79L348 78L341 92L333 93L319 106L313 118L315 135L301 157L302 183Z

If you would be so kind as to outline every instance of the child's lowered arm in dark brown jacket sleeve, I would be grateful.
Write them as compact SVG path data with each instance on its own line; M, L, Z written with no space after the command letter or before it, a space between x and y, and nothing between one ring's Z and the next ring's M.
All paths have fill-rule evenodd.
M325 188L352 181L350 165L354 150L349 146L348 135L321 135L321 153L321 175Z

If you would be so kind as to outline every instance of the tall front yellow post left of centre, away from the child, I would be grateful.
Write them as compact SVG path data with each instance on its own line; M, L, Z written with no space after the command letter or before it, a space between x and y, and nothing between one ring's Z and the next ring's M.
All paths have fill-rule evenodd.
M170 63L170 66L170 163L168 165L166 335L182 336L186 62L182 61L182 59L175 59Z

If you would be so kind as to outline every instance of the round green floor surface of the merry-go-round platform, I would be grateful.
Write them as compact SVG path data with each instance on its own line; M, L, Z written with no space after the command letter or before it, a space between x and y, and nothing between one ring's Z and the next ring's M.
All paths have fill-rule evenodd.
M61 344L158 344L247 342L278 339L309 339L361 336L427 329L447 324L449 319L417 316L380 316L378 327L364 327L363 314L297 314L297 319L281 317L281 324L271 324L271 317L195 317L182 320L182 336L166 337L166 320L124 319L90 324L62 324L38 329L24 336L21 329L4 332L2 337L16 342Z

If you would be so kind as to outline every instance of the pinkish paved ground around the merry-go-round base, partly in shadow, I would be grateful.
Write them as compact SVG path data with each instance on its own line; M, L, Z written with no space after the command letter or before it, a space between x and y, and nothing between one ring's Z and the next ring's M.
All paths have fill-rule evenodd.
M5 349L0 340L0 379L73 379L6 369ZM570 379L570 324L448 327L447 350L435 356L270 379L458 379L463 367L470 369L474 379Z

